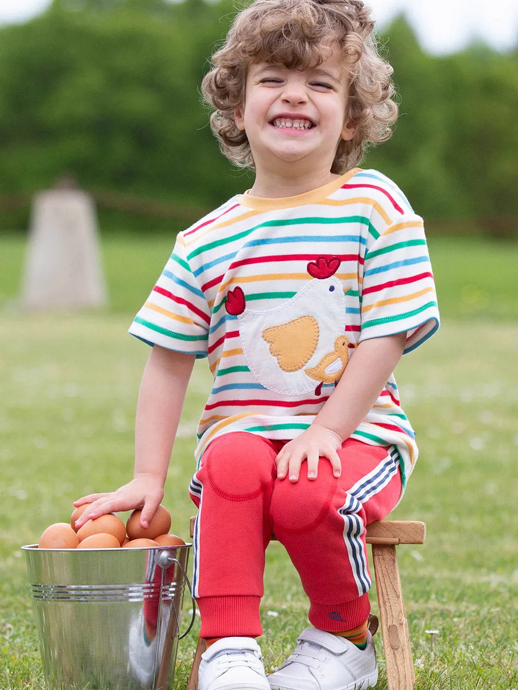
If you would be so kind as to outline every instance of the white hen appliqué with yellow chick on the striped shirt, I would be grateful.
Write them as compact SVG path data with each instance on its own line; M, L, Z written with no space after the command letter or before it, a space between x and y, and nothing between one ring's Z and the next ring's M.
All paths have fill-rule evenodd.
M267 311L249 309L239 286L227 293L225 308L238 319L244 359L269 391L320 395L343 374L351 345L344 335L344 288L334 275L338 266L338 257L309 262L309 282Z

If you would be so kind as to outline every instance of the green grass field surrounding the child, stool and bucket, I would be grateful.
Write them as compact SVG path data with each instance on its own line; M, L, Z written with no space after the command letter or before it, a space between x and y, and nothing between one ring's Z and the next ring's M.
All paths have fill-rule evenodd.
M421 455L393 515L428 524L424 546L399 549L416 689L518 690L518 248L465 244L430 243L444 321L396 371ZM170 248L163 238L108 239L112 310L36 316L17 313L11 302L21 243L0 240L1 690L43 687L19 546L67 520L81 493L113 489L131 476L148 349L126 328ZM201 362L166 484L172 529L184 537L193 513L186 484L195 424L209 386ZM374 594L372 602L375 611ZM265 660L277 666L307 625L307 600L276 543L267 550L262 614ZM433 647L429 629L439 631ZM386 690L376 638L377 687ZM195 634L180 643L177 690L185 687L194 646Z

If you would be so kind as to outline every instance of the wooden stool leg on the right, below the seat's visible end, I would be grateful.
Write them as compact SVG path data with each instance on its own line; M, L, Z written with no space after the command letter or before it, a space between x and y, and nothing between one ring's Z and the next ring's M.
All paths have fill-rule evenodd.
M381 635L389 690L412 690L415 683L405 604L392 544L372 544Z

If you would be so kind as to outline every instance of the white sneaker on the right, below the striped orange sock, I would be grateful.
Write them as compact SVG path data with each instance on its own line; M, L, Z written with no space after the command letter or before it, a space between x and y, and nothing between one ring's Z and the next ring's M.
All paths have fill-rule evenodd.
M340 635L307 628L280 669L268 676L271 690L361 690L376 685L372 635L358 649Z

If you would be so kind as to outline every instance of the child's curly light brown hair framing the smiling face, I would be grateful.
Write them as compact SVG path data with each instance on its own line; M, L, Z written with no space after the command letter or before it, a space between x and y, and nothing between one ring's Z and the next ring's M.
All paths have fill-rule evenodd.
M351 141L340 140L331 172L354 168L367 146L385 141L398 108L392 67L378 52L370 8L361 0L256 0L236 16L212 69L202 81L204 99L214 109L211 129L225 156L241 168L255 168L246 132L234 111L244 105L247 70L254 62L307 69L338 46L350 75L345 120L356 126Z

